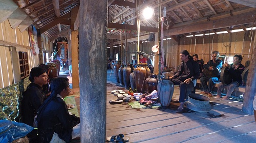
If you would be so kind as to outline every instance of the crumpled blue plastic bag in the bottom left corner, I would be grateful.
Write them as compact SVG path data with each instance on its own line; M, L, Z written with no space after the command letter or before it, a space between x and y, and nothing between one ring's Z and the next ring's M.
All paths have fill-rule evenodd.
M12 142L15 139L24 137L33 129L33 127L24 123L0 120L0 143Z

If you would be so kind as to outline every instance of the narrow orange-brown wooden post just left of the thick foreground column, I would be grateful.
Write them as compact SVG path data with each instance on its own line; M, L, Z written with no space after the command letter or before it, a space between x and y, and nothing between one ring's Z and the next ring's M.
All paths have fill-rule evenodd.
M78 31L71 32L72 88L79 88Z

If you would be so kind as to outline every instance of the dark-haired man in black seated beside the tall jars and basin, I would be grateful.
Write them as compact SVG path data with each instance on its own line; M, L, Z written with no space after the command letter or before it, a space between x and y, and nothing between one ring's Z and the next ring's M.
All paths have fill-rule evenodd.
M192 80L197 79L200 74L198 63L193 60L187 50L180 52L180 59L183 61L181 67L174 76L170 77L174 85L180 85L180 106L178 107L178 110L182 110L184 108L186 89L195 87Z

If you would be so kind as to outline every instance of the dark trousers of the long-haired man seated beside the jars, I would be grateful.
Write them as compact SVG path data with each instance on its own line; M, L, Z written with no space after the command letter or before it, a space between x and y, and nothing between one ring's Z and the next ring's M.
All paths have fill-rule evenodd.
M179 79L172 79L171 80L174 85L180 85L180 102L184 102L184 99L186 98L186 93L188 88L194 88L194 83L189 82L189 84L179 80Z

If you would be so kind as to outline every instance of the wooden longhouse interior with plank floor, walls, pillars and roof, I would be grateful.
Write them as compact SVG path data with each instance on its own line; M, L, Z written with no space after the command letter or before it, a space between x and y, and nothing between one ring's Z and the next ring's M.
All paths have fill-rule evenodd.
M129 142L255 142L256 1L0 0L0 7L1 120L18 122L20 95L30 70L59 58L59 76L65 76L61 74L72 61L72 77L67 76L80 116L80 142L110 142L108 137L120 133ZM147 7L154 10L150 19L142 15ZM198 54L205 63L212 51L219 51L223 62L241 54L241 64L249 69L246 85L228 100L210 97L207 112L177 110L179 87L168 107L110 104L117 99L111 91L129 90L116 83L113 69L107 69L108 59L130 63L138 51L155 54L151 59L159 74L154 45L162 46L164 63L174 72L181 50ZM197 82L196 93L201 90ZM17 88L19 84L23 88Z

